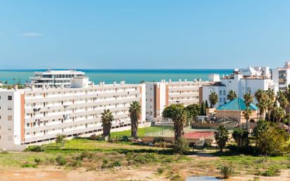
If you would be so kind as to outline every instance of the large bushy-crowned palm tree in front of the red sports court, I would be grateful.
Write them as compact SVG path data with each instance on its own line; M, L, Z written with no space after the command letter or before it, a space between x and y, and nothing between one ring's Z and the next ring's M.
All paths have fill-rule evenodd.
M184 135L183 127L187 123L187 111L182 104L171 104L163 110L163 118L173 121L175 131L175 142Z

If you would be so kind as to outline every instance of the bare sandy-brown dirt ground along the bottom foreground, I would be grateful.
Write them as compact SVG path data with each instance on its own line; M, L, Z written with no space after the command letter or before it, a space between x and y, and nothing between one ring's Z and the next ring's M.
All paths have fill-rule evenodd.
M216 157L211 156L191 156L198 161L214 161ZM211 175L218 177L219 172L214 168L191 168L187 164L172 164L172 170L178 170L182 180L191 175ZM168 173L158 174L160 166L150 165L138 168L123 168L120 170L95 170L87 171L84 168L69 170L53 166L42 166L39 168L0 168L0 181L121 181L121 180L152 180L167 181ZM246 175L244 173L228 179L229 181L253 180L256 175ZM290 181L290 170L282 170L278 177L259 177L260 181Z

